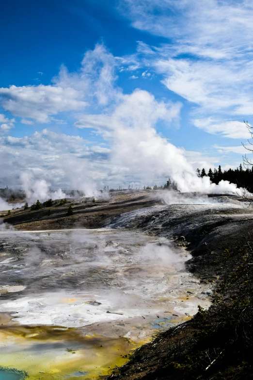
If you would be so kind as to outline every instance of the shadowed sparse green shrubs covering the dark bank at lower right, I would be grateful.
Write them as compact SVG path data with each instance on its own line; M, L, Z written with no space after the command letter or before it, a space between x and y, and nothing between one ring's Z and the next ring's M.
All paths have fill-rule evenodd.
M175 379L247 379L253 373L252 243L225 249L214 264L233 268L212 297L213 305L190 322L190 350L172 363ZM246 246L247 245L247 246Z

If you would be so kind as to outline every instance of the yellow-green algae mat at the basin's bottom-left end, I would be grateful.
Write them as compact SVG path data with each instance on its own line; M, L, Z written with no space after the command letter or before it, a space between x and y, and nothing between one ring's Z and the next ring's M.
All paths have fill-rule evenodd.
M108 374L126 363L139 347L124 338L86 335L81 329L54 330L45 326L5 326L0 329L0 365L15 365L29 379L80 380ZM31 333L31 330L33 331ZM124 357L125 356L125 357Z

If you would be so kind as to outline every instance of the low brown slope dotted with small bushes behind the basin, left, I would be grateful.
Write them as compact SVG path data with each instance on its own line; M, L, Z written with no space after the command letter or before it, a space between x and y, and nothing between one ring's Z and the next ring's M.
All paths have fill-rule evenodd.
M120 193L120 192L118 192ZM61 230L73 228L100 228L111 222L113 217L123 213L160 204L154 198L154 192L113 193L108 199L67 199L64 205L53 201L52 207L42 207L40 210L14 210L4 217L4 222L15 226L16 230ZM68 214L72 205L73 215ZM50 211L49 211L50 210Z

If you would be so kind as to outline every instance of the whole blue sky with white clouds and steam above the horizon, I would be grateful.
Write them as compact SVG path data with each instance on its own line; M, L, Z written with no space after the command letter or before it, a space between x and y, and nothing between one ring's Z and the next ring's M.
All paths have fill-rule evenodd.
M0 185L236 167L251 137L252 19L248 0L5 1Z

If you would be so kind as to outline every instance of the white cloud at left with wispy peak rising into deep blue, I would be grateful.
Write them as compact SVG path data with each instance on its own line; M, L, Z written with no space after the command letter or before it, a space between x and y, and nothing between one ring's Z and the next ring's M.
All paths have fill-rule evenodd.
M120 98L120 90L114 87L115 62L113 55L97 44L85 53L78 72L68 73L62 66L52 85L0 88L2 107L28 124L27 118L47 123L54 120L52 116L81 111L97 101L105 106Z

